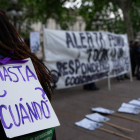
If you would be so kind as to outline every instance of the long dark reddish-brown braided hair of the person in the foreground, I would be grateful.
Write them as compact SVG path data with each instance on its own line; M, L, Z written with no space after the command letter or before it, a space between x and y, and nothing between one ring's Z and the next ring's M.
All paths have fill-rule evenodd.
M10 51L14 51L14 55L11 54ZM17 30L9 22L9 19L2 10L0 10L0 54L14 60L21 60L30 57L38 79L44 91L47 92L49 100L51 100L53 91L50 85L50 71L33 53L30 52L29 47L22 41Z

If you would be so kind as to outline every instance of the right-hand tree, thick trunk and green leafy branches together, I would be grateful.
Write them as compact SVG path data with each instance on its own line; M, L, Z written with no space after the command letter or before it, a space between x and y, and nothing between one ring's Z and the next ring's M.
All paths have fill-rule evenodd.
M128 39L133 40L136 31L139 29L139 6L139 0L82 0L80 14L86 19L88 28L91 26L96 11L98 11L109 30L113 27L115 30L119 29L115 32L127 33ZM118 9L122 10L123 18ZM88 12L84 13L85 10ZM114 22L111 22L110 13L115 15Z

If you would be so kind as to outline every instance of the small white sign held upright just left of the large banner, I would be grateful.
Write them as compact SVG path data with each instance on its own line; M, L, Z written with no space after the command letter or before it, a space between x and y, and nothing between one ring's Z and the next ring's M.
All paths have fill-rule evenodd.
M35 53L39 51L39 46L40 46L39 32L30 32L31 52Z

